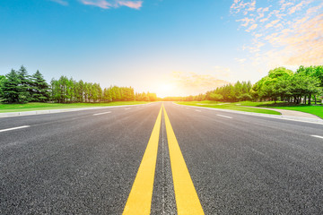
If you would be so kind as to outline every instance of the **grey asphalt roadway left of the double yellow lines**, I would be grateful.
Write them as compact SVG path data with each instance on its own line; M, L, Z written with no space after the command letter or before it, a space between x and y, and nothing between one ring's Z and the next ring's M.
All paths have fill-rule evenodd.
M0 133L0 214L121 214L160 107L13 117L31 127Z

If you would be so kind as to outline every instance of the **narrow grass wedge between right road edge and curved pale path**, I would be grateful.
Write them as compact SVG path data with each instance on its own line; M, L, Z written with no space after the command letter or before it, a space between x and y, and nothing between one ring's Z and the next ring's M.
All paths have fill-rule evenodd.
M270 114L270 115L281 115L279 112L274 110L267 110L267 109L258 109L252 107L241 107L237 106L235 103L221 103L216 101L180 101L176 102L179 105L188 105L188 106L196 106L196 107L212 107L212 108L219 108L219 109L231 109L231 110L239 110L239 111L246 111L246 112L253 112L253 113L260 113L260 114Z

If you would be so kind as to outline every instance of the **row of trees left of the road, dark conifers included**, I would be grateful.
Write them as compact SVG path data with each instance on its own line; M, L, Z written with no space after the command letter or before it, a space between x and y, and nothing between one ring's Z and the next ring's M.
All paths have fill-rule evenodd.
M155 93L135 93L132 87L100 87L100 83L79 82L61 76L48 84L37 71L29 75L24 66L0 75L0 100L3 103L33 102L110 102L110 101L155 101Z

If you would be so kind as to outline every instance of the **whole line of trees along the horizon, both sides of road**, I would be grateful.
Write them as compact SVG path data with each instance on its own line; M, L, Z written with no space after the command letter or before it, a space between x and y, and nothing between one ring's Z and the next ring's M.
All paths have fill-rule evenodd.
M278 67L255 84L235 82L214 90L188 97L169 97L163 100L214 100L237 101L285 101L295 104L317 104L323 95L323 66L300 66L296 72ZM18 71L0 75L0 100L3 103L25 102L111 102L155 101L155 93L135 92L132 87L110 86L102 89L100 83L75 81L61 76L46 82L37 71L29 74L24 66Z

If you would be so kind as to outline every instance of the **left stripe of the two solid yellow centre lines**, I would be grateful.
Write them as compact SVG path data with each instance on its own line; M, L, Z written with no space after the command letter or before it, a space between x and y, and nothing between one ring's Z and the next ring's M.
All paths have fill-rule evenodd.
M163 106L162 106L163 107ZM157 116L153 132L149 139L144 157L135 176L135 182L129 193L123 215L150 214L153 197L153 179L156 167L159 135L162 122L162 107Z

